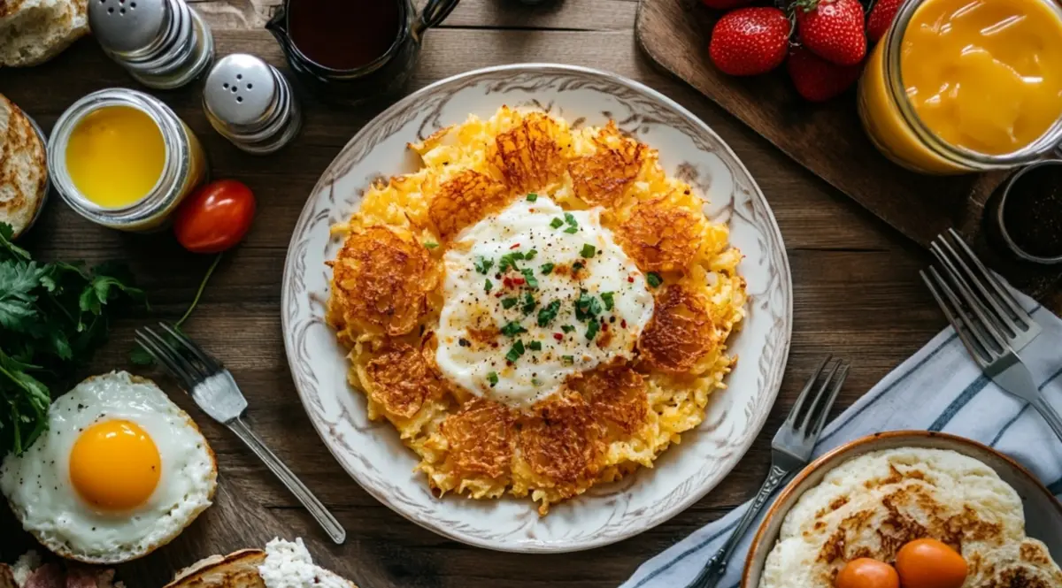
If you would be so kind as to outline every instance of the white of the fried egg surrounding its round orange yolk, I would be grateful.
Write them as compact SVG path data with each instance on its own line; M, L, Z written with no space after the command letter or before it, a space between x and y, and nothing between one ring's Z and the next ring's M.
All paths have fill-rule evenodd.
M121 513L95 507L70 480L80 433L110 419L137 423L161 459L154 492ZM210 505L216 485L213 452L188 415L154 382L125 371L89 378L57 398L48 431L0 466L0 491L22 526L53 552L96 564L140 557L169 542Z

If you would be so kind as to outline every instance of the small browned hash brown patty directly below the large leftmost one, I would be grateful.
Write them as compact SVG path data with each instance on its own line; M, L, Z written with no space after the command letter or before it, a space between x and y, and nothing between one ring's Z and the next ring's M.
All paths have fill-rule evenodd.
M365 366L362 385L389 415L411 418L428 398L441 398L446 383L435 370L432 349L393 342Z

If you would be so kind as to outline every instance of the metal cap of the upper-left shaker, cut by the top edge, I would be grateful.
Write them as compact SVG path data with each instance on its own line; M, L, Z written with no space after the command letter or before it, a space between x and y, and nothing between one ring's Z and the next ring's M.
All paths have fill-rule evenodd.
M167 0L88 0L92 36L113 53L132 53L156 44L169 27Z

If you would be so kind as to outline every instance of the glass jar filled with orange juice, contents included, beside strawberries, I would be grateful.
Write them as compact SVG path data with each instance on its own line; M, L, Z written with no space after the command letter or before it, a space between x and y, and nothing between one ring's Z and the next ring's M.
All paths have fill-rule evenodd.
M905 0L859 81L871 140L929 174L1004 169L1062 141L1062 6Z

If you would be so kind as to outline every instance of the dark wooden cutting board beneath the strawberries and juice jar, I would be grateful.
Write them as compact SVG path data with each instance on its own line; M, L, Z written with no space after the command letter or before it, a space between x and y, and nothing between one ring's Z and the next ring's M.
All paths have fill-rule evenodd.
M1057 293L1062 269L1012 261L982 236L984 203L1005 172L937 177L907 171L863 133L854 90L811 104L796 94L783 69L754 77L720 73L707 56L718 16L698 0L640 0L638 45L657 66L921 245L954 227L1020 289L1041 299Z

